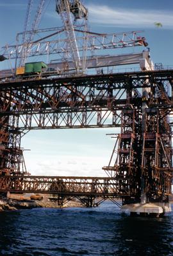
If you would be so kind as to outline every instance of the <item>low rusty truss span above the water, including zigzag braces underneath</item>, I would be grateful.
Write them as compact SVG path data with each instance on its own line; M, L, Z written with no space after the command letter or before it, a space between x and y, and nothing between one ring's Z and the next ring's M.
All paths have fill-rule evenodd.
M98 206L106 199L120 206L115 198L128 196L128 190L125 179L123 188L118 183L118 179L105 177L4 176L0 177L0 192L56 194L51 199L58 205L77 198L88 207Z

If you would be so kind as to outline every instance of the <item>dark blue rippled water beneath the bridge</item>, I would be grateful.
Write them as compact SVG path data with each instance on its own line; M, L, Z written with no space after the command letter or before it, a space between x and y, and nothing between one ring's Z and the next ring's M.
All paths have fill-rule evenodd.
M173 255L173 214L130 217L99 208L0 213L0 255Z

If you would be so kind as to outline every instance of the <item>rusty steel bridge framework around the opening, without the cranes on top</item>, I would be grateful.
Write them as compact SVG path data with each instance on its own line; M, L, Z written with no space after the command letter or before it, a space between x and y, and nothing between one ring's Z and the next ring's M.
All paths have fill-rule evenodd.
M24 132L120 127L111 161L103 167L110 178L103 183L110 179L113 188L110 193L122 197L124 204L139 202L141 194L145 194L148 201L168 200L172 181L172 123L169 118L173 107L170 96L173 70L40 80L38 77L16 78L1 82L0 86L1 191L45 192L47 184L54 184L53 178L24 176L26 169L24 164L21 168L24 162L20 147ZM113 162L116 151L117 159ZM62 178L65 184L67 179ZM72 193L70 186L78 192L83 181L76 179L67 181L66 193ZM93 178L91 182L85 181L87 193L92 193L93 182ZM53 190L57 193L57 186L52 187L51 192ZM102 190L103 196L104 193Z

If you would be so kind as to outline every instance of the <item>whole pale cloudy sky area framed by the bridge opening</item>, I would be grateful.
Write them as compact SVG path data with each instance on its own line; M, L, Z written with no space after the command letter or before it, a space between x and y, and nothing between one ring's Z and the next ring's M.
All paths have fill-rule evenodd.
M32 131L22 138L27 170L32 175L104 176L117 129Z

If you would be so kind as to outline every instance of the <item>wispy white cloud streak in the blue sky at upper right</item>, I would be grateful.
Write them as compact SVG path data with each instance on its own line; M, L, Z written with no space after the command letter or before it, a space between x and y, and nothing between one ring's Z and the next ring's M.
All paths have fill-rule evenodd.
M173 12L164 10L113 9L106 5L89 5L88 10L89 20L95 24L154 28L154 23L159 22L163 24L163 28L172 28L173 26Z

